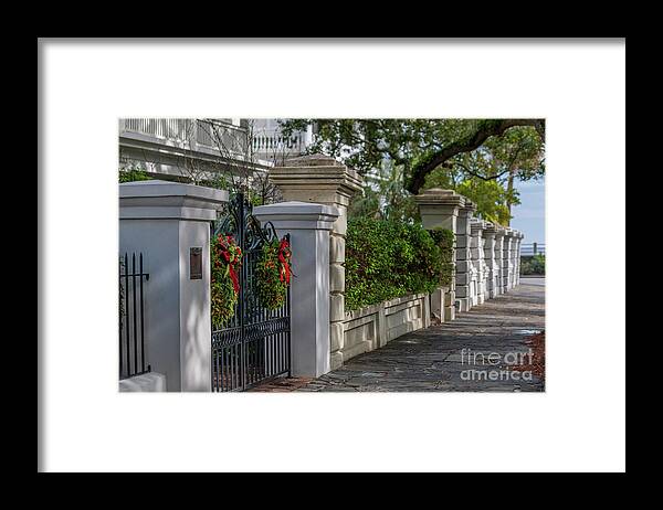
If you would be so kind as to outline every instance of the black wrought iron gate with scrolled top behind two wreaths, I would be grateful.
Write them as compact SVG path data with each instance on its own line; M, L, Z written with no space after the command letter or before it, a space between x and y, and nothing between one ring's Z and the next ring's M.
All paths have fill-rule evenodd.
M256 291L255 267L264 243L277 238L271 223L261 227L242 193L225 216L212 225L212 236L232 235L242 249L234 315L212 328L212 391L244 391L291 370L290 286L285 304L267 309ZM286 236L287 237L287 236Z

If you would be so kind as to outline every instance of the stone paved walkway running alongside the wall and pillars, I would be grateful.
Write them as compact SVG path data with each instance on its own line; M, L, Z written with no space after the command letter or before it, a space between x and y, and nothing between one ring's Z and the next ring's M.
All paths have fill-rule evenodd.
M452 322L397 338L294 391L541 392L543 381L513 380L505 368L513 364L515 353L528 351L525 339L545 328L544 283L520 278L508 294L457 315ZM488 359L491 353L496 354Z

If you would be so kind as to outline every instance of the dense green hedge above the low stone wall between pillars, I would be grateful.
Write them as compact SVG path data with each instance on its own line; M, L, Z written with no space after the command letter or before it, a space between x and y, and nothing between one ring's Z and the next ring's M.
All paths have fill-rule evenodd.
M407 294L430 293L440 286L446 266L444 248L436 237L448 236L434 235L420 224L369 217L348 221L346 310Z

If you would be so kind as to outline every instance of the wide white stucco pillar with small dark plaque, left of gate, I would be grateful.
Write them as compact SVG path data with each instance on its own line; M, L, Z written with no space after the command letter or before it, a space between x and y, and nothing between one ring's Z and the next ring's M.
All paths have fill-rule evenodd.
M119 251L144 254L147 358L169 392L211 391L210 222L227 201L227 191L192 184L119 184Z

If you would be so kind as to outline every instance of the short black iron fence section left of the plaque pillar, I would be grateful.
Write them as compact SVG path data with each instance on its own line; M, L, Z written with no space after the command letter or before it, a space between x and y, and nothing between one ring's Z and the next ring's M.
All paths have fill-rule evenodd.
M143 253L119 257L119 379L150 371L145 350L145 286Z

